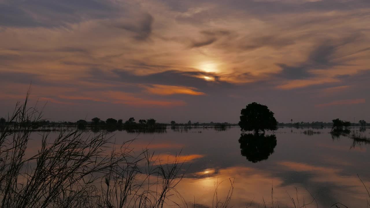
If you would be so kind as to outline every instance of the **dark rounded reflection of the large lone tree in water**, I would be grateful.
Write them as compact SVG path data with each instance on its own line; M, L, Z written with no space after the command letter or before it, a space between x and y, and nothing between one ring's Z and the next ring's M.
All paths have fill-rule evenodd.
M239 138L240 153L251 162L267 160L274 152L277 141L275 135L242 134Z

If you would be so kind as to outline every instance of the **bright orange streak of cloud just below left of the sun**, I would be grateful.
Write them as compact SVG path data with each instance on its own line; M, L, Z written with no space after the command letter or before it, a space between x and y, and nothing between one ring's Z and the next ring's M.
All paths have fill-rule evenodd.
M202 92L195 91L195 87L181 87L172 85L154 84L152 87L147 87L149 93L158 95L172 95L172 94L187 94L187 95L204 95Z

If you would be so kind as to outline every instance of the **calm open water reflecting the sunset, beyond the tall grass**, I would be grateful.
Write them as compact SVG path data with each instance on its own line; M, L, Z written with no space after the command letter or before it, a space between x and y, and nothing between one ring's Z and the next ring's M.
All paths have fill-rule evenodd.
M370 146L353 147L353 141L345 136L332 138L330 128L313 129L320 132L313 135L303 134L305 130L279 128L275 142L255 144L245 138L240 140L242 148L240 128L236 127L226 131L195 128L182 132L167 129L165 133L111 134L116 143L137 137L132 147L138 151L148 147L164 162L181 151L187 171L176 189L189 207L194 207L194 201L195 207L212 207L215 183L228 178L235 182L230 203L233 207L250 204L258 207L263 198L270 206L272 188L275 205L279 202L280 207L292 207L288 194L296 199L296 190L300 205L303 198L306 203L311 201L306 188L317 196L319 207L330 207L335 202L366 207L367 192L357 174L369 187ZM370 136L369 129L361 133ZM34 141L37 136L35 133ZM222 182L219 197L229 188L229 181Z

